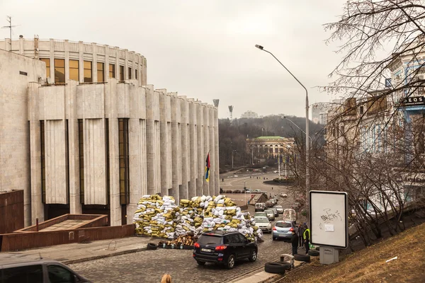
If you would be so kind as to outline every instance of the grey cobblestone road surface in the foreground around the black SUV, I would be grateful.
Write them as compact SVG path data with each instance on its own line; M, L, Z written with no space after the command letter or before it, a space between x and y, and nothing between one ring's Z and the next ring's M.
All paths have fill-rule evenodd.
M256 262L238 262L233 270L219 265L199 266L192 258L192 250L145 250L139 253L80 262L69 265L73 270L94 282L160 282L169 273L173 282L229 282L254 270L263 270L265 262L278 260L282 253L290 253L290 243L271 241L264 235L259 243Z

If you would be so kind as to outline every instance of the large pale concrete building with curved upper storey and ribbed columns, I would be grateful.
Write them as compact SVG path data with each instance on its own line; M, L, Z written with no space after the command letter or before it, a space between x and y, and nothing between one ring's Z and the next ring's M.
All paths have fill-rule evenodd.
M121 225L142 195L218 194L217 108L146 85L144 57L66 40L12 51L0 50L0 190L24 190L26 225L64 213Z

